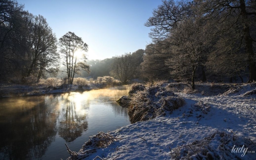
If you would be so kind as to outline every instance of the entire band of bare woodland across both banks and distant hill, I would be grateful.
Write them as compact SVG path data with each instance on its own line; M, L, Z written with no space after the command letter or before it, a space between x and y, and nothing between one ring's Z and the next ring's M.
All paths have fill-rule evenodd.
M77 76L113 76L124 84L165 79L189 82L195 89L196 81L256 80L254 0L163 0L144 24L152 42L104 60L76 56L89 49L81 37L67 32L58 40L46 19L24 5L0 4L1 82L59 76L72 84Z

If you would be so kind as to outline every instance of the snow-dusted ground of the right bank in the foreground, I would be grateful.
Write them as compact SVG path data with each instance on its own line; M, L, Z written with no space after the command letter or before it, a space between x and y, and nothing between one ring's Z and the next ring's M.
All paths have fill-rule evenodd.
M119 139L105 148L84 145L77 158L255 160L256 84L197 88L176 92L186 104L172 114L109 132Z

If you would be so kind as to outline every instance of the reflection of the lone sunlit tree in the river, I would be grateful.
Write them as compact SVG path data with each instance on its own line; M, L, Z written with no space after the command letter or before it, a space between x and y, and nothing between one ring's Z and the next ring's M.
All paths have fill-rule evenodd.
M62 113L62 120L59 125L59 135L66 142L72 142L77 137L80 137L83 131L88 128L88 122L86 120L86 114L77 115L76 114L76 103L70 101L66 103L67 106Z

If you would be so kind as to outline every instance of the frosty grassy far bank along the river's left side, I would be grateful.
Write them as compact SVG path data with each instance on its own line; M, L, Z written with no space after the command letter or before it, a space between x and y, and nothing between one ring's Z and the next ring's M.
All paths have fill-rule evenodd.
M13 97L24 95L39 95L63 92L84 92L92 89L107 88L110 86L120 85L120 82L113 77L104 76L93 80L92 78L74 78L73 84L68 84L67 78L47 78L40 79L38 83L30 82L21 84L0 84L0 97ZM100 81L99 81L100 79Z

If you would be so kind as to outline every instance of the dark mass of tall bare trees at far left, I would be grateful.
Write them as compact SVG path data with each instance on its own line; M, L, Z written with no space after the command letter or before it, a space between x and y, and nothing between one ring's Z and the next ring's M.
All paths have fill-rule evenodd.
M57 38L46 19L12 0L0 1L0 77L24 80L58 71Z

